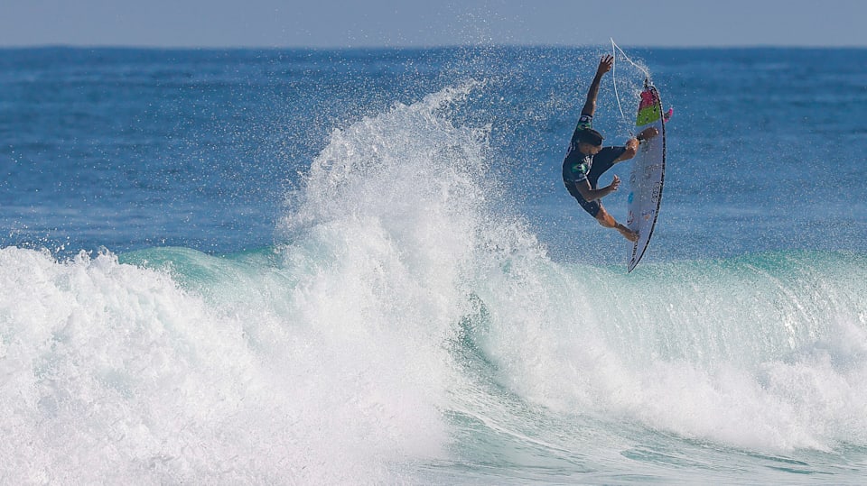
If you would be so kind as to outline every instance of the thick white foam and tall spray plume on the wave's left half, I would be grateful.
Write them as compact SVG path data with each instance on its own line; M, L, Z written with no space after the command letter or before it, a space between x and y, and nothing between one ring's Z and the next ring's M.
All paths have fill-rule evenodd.
M469 89L335 132L272 250L5 248L4 479L376 482L442 456L496 192L486 130L446 116Z

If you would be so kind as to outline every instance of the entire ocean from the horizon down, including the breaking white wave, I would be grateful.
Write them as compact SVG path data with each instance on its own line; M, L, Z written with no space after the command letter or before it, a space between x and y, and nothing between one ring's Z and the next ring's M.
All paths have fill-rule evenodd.
M624 50L632 273L606 46L0 50L0 482L867 481L867 50Z

